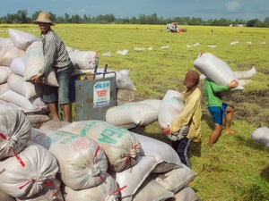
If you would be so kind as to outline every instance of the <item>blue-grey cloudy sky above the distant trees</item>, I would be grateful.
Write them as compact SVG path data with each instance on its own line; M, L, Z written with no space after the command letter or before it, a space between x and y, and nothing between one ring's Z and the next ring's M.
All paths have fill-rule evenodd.
M225 18L264 21L269 17L269 0L1 0L0 17L27 10L28 16L42 11L56 16L78 14L96 17L113 14L116 18L138 18L157 14L158 18L198 17L207 21Z

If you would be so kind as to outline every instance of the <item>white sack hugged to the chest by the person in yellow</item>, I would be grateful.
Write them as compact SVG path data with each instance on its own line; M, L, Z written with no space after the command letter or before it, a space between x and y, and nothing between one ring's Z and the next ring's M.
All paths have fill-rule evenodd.
M167 90L161 100L159 107L158 121L161 127L167 127L175 121L176 117L185 108L184 96L175 90Z

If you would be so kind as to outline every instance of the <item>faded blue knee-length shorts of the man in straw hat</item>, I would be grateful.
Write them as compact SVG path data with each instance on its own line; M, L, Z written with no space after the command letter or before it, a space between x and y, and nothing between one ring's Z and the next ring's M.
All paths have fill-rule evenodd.
M59 87L52 87L45 85L43 90L42 100L45 103L58 103L58 105L65 105L70 103L69 89L70 78L74 71L73 64L63 71L56 71L56 79Z

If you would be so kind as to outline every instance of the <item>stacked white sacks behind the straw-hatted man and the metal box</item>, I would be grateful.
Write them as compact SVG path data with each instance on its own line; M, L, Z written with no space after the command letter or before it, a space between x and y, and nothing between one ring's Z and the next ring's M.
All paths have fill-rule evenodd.
M31 81L44 63L41 40L17 29L8 29L8 33L9 38L0 38L0 100L17 106L27 114L31 123L48 121L48 116L44 114L47 105L40 98L44 84ZM92 73L99 64L97 52L73 50L68 46L67 50L74 64L74 77L81 73ZM100 71L103 69L98 69L97 72ZM136 88L133 81L130 80L126 71L115 72L105 77L116 74L118 96L123 97L129 94L131 100L134 100L132 92ZM102 77L102 75L97 75L95 79ZM44 82L58 86L55 71L49 71ZM119 98L119 101L121 99Z

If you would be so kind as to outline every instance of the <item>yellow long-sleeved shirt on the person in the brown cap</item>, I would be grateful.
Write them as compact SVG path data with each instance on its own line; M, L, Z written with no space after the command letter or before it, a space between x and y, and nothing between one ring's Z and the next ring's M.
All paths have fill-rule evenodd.
M201 117L202 117L202 94L199 88L193 92L184 91L185 108L170 125L171 132L178 132L183 126L189 125L187 138L193 138L194 141L201 141Z

